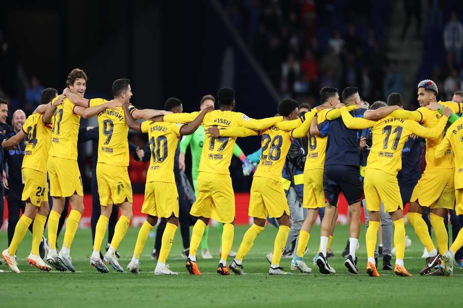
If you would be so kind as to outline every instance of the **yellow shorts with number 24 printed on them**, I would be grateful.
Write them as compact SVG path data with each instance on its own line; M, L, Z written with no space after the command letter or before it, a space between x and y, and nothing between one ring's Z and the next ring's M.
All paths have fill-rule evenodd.
M28 201L35 206L48 201L47 174L30 168L22 168L24 189L21 200Z

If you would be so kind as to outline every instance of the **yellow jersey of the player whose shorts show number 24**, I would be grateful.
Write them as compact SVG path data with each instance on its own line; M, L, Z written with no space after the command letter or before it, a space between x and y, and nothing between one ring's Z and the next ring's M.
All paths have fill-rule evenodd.
M51 143L51 124L42 121L42 114L29 115L23 125L23 131L28 136L24 152L22 168L30 168L47 172L48 151Z

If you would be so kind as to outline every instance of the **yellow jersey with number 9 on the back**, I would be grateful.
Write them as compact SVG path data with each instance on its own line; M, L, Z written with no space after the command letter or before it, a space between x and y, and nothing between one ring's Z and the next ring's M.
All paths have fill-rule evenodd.
M106 100L90 100L89 107L104 104ZM135 110L130 106L129 111ZM98 119L98 162L113 166L129 165L129 127L122 107L104 109Z

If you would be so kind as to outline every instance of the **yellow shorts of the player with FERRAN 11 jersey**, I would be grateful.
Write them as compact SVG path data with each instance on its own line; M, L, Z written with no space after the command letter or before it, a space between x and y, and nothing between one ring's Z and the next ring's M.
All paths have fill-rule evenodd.
M380 211L381 201L387 213L393 213L399 208L403 209L397 176L367 167L363 187L368 210Z

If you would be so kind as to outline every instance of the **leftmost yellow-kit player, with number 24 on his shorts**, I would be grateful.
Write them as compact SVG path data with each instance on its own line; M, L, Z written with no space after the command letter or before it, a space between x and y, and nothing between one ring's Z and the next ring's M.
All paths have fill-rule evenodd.
M50 102L58 95L56 89L47 88L42 91L41 101ZM62 103L64 96L56 100ZM50 103L40 105L29 115L22 130L13 137L2 142L3 148L15 146L21 140L28 137L21 172L24 177L24 189L22 200L26 202L26 208L14 229L10 246L2 252L3 259L15 273L20 273L16 264L16 249L24 239L29 225L32 223L32 250L27 257L27 262L41 269L51 271L51 267L39 256L39 244L42 240L45 222L48 216L48 185L47 185L47 160L51 143L51 113L45 111L53 108ZM62 268L63 270L65 268Z

